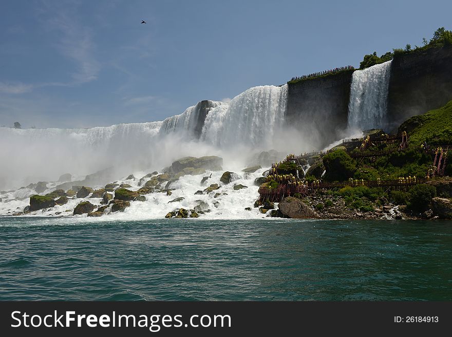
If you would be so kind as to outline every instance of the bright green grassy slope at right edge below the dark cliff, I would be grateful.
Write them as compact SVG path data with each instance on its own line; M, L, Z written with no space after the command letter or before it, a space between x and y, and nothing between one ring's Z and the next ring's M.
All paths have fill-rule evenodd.
M452 101L423 115L412 116L404 122L400 131L407 131L409 142L421 145L452 145Z

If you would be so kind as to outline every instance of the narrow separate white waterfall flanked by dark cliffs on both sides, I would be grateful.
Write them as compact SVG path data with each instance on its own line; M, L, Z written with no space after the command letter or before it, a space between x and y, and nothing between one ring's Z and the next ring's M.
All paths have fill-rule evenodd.
M351 130L385 127L391 61L353 72L348 126Z

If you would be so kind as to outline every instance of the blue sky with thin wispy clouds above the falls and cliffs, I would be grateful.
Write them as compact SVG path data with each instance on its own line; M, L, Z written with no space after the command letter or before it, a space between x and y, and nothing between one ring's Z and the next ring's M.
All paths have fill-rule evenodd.
M201 100L422 45L452 29L451 11L450 0L3 0L0 126L162 120Z

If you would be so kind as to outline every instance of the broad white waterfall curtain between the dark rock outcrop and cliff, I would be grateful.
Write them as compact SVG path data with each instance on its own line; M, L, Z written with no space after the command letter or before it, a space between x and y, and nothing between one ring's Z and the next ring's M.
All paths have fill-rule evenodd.
M287 107L287 85L259 86L213 109L205 120L201 140L219 147L238 144L271 147Z

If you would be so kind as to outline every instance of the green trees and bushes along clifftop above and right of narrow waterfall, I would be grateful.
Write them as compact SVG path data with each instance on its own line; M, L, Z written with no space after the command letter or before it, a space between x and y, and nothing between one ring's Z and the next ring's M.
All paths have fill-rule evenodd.
M434 32L433 37L430 39L430 41L427 41L425 37L423 38L422 47L415 46L414 49L411 49L411 45L407 44L405 46L405 49L393 49L392 52L387 52L381 56L378 56L376 54L376 51L374 51L373 54L364 55L364 59L360 63L360 69L365 69L380 63L390 61L392 60L394 55L416 53L429 48L442 48L444 46L450 45L452 45L452 31L446 30L444 27L441 27Z

